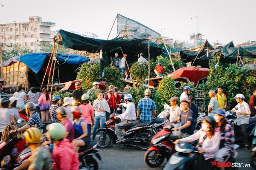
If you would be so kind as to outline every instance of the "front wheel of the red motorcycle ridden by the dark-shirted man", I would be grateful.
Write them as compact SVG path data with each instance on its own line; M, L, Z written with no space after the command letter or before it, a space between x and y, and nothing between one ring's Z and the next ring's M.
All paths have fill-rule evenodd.
M148 150L144 155L144 161L149 167L159 167L164 161L164 156L161 152L157 154L156 150Z

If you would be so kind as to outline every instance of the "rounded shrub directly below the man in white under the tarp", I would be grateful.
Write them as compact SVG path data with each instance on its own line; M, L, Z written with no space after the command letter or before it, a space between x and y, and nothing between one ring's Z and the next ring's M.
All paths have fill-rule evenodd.
M148 77L148 64L135 62L131 65L131 77L136 79L137 82L143 83L144 79Z

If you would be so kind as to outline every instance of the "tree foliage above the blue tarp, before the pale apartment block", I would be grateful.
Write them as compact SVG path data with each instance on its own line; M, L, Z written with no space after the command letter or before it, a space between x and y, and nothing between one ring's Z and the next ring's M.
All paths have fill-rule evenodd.
M2 50L3 61L6 61L12 57L20 56L22 54L32 53L29 48L21 48L18 45L6 45L7 48Z

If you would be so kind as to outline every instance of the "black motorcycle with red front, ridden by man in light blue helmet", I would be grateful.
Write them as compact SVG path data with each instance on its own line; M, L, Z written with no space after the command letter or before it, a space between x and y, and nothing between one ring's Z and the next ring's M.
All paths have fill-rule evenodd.
M99 128L93 136L93 140L96 140L99 144L99 148L107 148L111 142L116 143L117 137L115 134L115 124L117 119L116 113L112 113L110 119L104 123L105 127ZM151 122L137 123L131 127L125 129L124 137L125 144L132 144L137 146L140 150L147 150L151 144L151 138L153 137L153 125Z

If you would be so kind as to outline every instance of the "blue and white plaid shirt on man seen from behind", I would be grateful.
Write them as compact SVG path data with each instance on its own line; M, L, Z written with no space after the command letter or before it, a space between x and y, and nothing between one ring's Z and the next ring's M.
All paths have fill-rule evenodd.
M151 122L152 121L152 111L157 109L154 100L149 97L144 97L139 100L138 109L140 109L140 121Z

